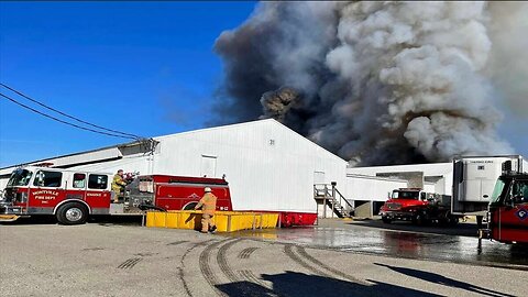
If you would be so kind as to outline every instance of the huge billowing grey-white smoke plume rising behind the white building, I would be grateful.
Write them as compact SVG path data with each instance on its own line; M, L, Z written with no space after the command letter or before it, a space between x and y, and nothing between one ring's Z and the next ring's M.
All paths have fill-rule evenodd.
M486 2L261 3L217 40L230 98L219 112L230 121L273 117L362 165L512 153L495 132L502 117L490 62L502 58L490 28L508 38L494 12L507 10Z

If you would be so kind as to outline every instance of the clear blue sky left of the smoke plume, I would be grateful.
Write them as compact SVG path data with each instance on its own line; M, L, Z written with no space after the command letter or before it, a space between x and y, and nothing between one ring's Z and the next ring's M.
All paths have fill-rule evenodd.
M210 121L215 40L256 2L0 2L0 80L98 125L141 136ZM4 90L2 90L3 92ZM526 119L499 132L528 157ZM0 167L128 142L0 98Z

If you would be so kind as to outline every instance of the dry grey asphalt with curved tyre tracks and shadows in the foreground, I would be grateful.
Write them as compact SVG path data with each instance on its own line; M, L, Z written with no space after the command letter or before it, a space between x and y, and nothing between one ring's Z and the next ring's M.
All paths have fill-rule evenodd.
M369 245L378 249L365 232L380 230L360 224L328 221L315 228L231 234L151 229L136 221L1 224L0 292L2 296L526 295L528 272L522 265L496 267L429 260L419 253L411 257L403 252L364 252ZM338 235L329 235L332 230ZM350 232L360 237L343 244ZM312 239L324 234L327 240L314 242L306 234Z

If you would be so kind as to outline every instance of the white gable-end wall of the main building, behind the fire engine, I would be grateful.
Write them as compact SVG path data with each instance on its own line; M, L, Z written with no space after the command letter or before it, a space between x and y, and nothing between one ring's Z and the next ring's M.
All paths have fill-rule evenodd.
M343 183L346 163L274 120L199 130L158 139L154 172L230 183L237 210L316 212L315 172ZM207 166L205 166L205 164ZM210 175L208 175L210 176Z

